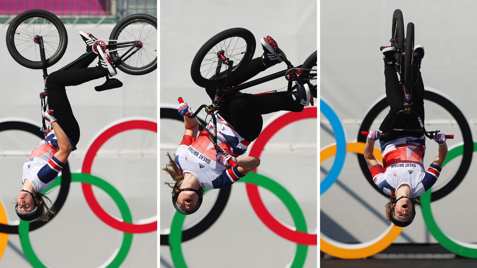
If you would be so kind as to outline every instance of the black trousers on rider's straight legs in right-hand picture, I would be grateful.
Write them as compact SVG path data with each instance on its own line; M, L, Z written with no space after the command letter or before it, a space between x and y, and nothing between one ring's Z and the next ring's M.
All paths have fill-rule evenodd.
M421 129L421 125L417 120L417 116L415 114L403 114L401 113L396 118L396 122L392 126L392 122L394 119L394 115L397 112L404 110L404 93L401 91L401 87L399 86L399 80L397 78L397 72L393 69L385 69L384 70L384 77L386 79L386 99L390 106L389 113L384 118L383 123L379 127L383 133L387 132L390 128L407 128L404 125L406 122L413 129ZM417 80L416 85L412 88L412 101L414 106L412 106L411 110L416 111L421 116L421 120L424 123L424 83L422 82L421 71L419 71L419 79ZM391 133L387 136L381 137L379 140L381 142L389 142L394 140L400 136L414 136L414 137L421 137L423 134L420 132L415 131L391 131Z

